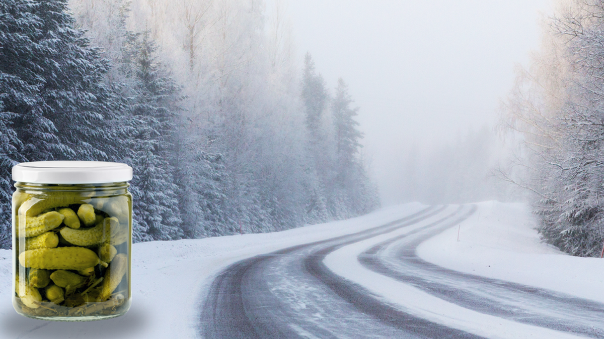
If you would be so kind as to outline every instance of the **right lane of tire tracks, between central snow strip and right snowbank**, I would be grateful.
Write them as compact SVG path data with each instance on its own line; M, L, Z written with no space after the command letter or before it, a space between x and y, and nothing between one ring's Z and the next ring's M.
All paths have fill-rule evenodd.
M388 239L363 252L359 262L371 271L483 314L590 338L604 338L602 303L449 270L416 255L416 249L423 241L455 225L457 223L450 223L414 238L410 238L412 233L406 233Z

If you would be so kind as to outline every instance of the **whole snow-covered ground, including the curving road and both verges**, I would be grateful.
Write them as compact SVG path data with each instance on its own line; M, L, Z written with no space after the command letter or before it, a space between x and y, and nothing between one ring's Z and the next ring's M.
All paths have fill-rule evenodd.
M16 314L0 250L0 338L603 338L604 259L542 243L525 204L472 206L137 243L132 309L102 322Z

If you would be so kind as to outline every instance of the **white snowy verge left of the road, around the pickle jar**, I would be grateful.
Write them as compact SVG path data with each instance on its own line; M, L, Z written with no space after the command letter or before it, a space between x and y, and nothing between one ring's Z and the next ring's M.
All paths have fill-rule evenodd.
M195 338L205 290L228 265L381 226L425 207L404 204L350 220L283 232L134 244L132 307L121 317L101 322L44 322L18 315L10 301L12 255L9 250L0 250L0 338Z

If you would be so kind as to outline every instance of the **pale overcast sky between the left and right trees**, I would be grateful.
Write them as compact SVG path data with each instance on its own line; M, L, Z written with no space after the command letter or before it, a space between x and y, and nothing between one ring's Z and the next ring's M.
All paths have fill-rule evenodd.
M406 145L493 124L553 0L283 0L298 59L349 84L385 204ZM271 7L271 2L268 6ZM301 69L300 65L300 69Z

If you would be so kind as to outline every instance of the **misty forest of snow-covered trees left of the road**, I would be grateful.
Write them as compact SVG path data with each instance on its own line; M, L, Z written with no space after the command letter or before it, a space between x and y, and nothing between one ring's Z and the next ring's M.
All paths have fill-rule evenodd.
M0 212L11 166L133 167L135 241L268 232L379 205L357 109L255 0L2 0ZM5 245L6 246L6 245Z

